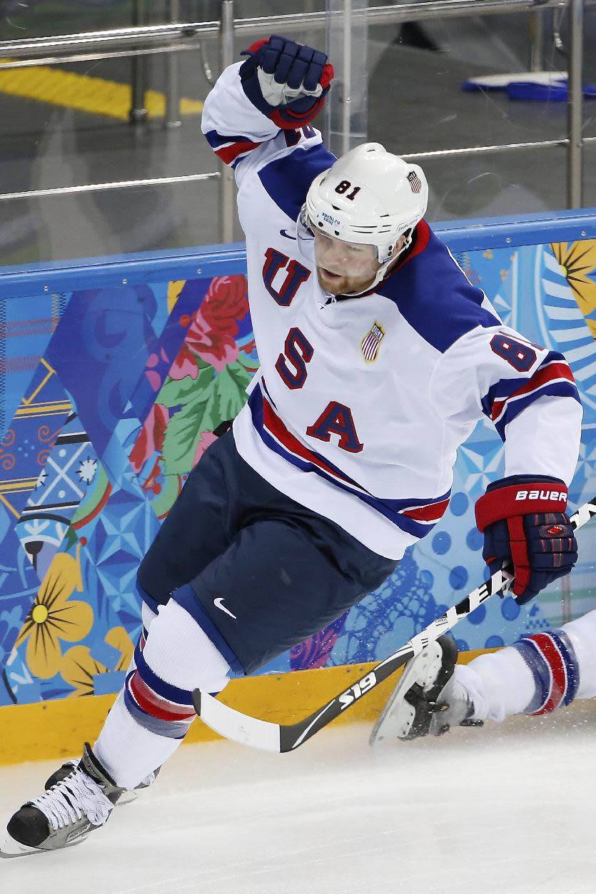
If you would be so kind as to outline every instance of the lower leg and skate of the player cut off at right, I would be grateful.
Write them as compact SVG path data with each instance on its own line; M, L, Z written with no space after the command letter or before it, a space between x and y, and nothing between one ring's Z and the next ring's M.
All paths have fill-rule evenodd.
M545 714L596 696L596 610L558 630L456 664L448 636L408 662L379 716L371 744L384 738L441 736L452 726Z

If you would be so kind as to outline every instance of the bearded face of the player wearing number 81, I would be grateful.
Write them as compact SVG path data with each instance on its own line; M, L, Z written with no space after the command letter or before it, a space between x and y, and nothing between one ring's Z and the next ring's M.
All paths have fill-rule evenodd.
M366 291L379 270L377 249L315 232L315 258L321 289L331 295Z

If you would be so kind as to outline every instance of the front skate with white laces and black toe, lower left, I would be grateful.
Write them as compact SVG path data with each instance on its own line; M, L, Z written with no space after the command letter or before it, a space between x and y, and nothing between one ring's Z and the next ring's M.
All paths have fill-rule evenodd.
M0 856L70 848L107 821L124 789L110 779L89 744L77 763L62 780L13 815L0 843Z

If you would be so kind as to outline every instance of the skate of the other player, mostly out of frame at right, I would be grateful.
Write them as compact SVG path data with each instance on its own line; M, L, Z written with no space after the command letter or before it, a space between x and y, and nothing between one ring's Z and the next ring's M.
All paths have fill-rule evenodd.
M474 706L456 683L457 646L451 637L432 640L404 667L396 688L370 733L370 745L384 738L442 736L452 726L481 726L470 720Z

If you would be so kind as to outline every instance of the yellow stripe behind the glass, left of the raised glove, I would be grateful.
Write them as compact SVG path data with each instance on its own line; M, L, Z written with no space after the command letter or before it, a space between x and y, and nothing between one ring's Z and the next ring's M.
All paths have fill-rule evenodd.
M8 60L1 60L6 62ZM60 105L78 112L103 114L119 121L128 121L131 110L131 86L115 80L91 77L56 69L52 65L0 70L0 93L35 99L40 103ZM166 114L166 97L157 90L147 90L145 107L150 117ZM200 114L203 104L195 99L181 99L181 114Z

